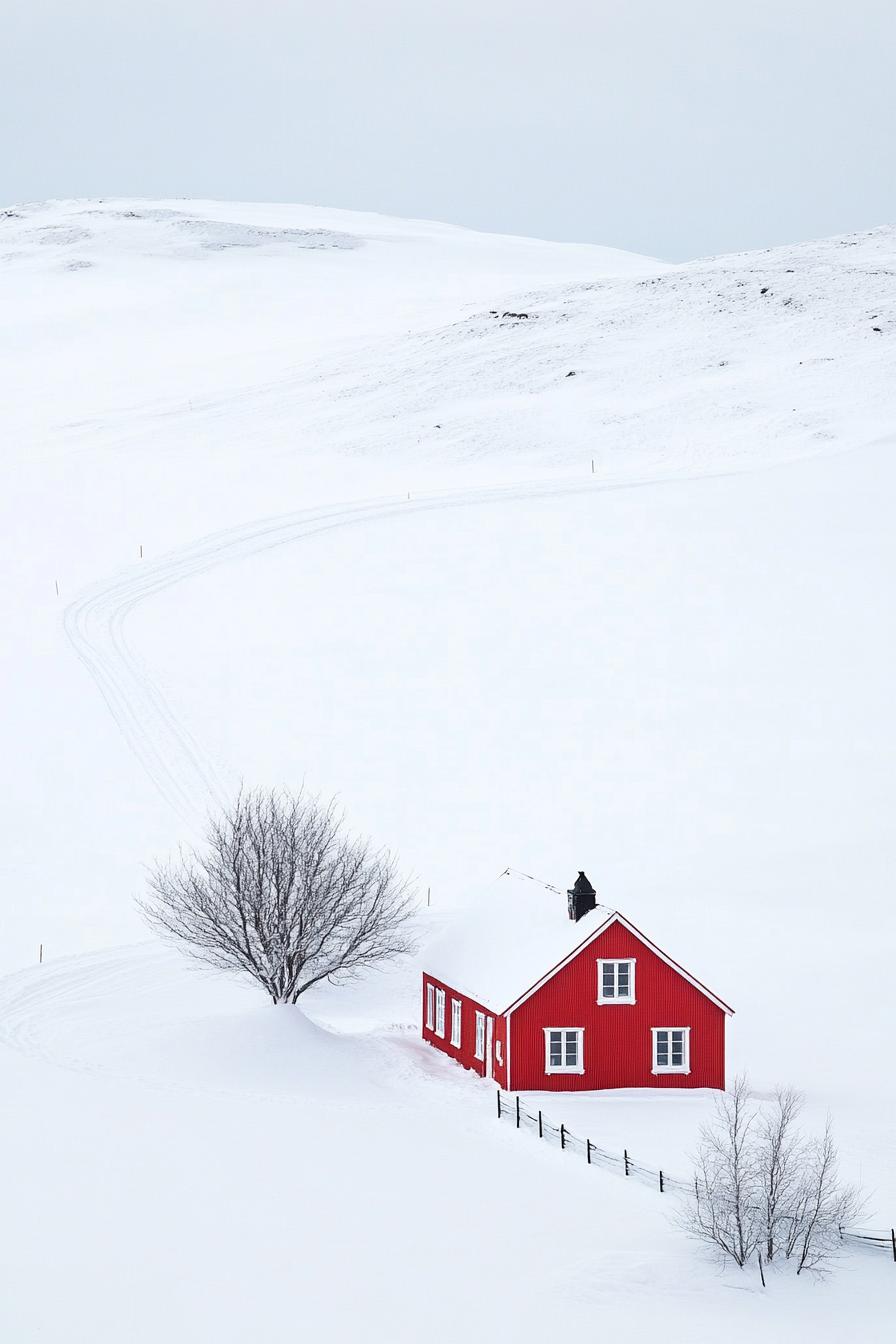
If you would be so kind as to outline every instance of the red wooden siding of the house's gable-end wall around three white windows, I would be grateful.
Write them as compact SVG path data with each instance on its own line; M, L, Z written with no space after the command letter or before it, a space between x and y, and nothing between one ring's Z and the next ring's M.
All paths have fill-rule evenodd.
M615 958L634 958L633 1004L598 1003L596 962ZM545 1073L545 1027L584 1028L584 1073ZM688 1074L653 1073L653 1027L690 1028ZM610 925L510 1013L508 1090L724 1089L724 1012L625 925Z

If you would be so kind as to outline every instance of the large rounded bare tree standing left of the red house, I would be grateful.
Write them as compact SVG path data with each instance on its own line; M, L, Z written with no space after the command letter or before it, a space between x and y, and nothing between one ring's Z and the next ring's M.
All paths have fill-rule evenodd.
M238 970L275 1004L410 952L414 902L395 860L349 836L334 802L240 792L201 849L150 871L149 923Z

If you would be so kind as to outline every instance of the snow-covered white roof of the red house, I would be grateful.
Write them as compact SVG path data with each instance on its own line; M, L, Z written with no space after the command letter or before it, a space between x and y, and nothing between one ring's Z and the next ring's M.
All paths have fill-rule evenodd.
M513 870L485 886L442 927L427 948L426 970L485 1007L505 1012L614 919L715 1004L732 1012L618 910L598 905L580 919L570 919L564 890L549 890Z

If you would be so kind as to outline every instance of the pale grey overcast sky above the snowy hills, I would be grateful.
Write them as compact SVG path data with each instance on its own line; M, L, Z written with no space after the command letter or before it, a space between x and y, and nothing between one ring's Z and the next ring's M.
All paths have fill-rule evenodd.
M672 259L896 220L896 0L0 0L0 204L216 196Z

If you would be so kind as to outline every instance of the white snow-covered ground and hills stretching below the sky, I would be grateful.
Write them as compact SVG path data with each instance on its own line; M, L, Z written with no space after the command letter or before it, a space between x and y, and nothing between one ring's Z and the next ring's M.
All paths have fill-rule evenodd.
M763 1297L498 1126L415 1038L424 953L314 1027L133 898L240 777L339 790L423 945L584 867L891 1226L896 231L669 267L56 203L0 214L0 297L3 1337L881 1329L884 1255ZM709 1105L545 1109L686 1172Z

